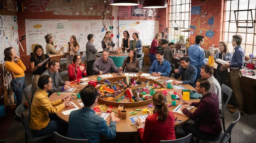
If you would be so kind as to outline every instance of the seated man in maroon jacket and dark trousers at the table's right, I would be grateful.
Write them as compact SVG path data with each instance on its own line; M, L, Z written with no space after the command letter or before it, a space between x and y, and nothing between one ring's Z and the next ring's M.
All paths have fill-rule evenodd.
M216 93L210 92L210 82L205 78L199 78L196 82L195 90L202 94L200 102L182 103L180 110L190 119L195 121L195 124L185 123L183 130L186 134L192 133L194 137L200 137L213 141L217 139L222 131L219 115L219 100ZM188 106L197 107L193 113L186 109ZM194 143L193 137L190 143Z

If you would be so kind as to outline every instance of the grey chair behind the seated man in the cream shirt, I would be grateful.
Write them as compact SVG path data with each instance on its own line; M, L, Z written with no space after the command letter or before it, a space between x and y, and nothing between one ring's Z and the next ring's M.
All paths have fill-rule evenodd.
M231 98L231 95L232 95L232 93L233 93L233 90L230 89L227 85L222 84L222 85L221 85L221 91L222 91L222 94L221 94L221 99L222 99L222 100L223 100L223 95L224 95L224 93L227 94L227 96L228 96L226 103L225 103L224 100L223 100L223 103L225 103L225 105L222 106L221 114L220 114L220 119L222 119L223 130L224 130L224 132L225 132L225 131L226 131L226 128L225 128L225 119L224 119L225 116L224 116L224 115L225 115L225 110L226 110L227 104L228 104L228 102L229 102L229 100L230 100L230 98Z

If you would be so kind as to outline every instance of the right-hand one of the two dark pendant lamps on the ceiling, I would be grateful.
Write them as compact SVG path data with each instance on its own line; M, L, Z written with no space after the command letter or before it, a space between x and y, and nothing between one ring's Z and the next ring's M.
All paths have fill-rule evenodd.
M167 2L166 0L144 0L143 8L149 9L158 9L158 8L166 8Z

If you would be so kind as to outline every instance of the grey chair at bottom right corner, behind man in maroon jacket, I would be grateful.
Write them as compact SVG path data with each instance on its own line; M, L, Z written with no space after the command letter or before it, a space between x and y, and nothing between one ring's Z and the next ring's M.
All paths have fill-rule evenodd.
M236 125L237 121L240 119L239 111L235 111L232 114L232 117L233 117L234 121L229 125L229 127L227 128L227 130L224 133L220 133L220 136L215 141L202 140L202 139L196 137L197 140L199 139L203 143L227 143L227 142L231 143L231 131L234 128L234 126Z

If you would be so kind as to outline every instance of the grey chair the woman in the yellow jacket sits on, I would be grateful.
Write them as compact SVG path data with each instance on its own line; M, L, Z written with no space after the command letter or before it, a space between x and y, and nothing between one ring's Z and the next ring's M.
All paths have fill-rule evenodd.
M23 104L20 104L16 108L15 113L18 116L18 118L20 119L20 121L22 122L22 124L25 128L25 143L27 143L28 138L29 138L29 143L35 143L35 142L38 142L38 141L42 141L43 139L47 139L49 137L52 137L54 135L54 133L52 133L52 134L48 134L48 135L43 136L43 137L39 137L39 136L36 136L35 134L33 134L31 132L31 129L29 128L28 124L22 118L22 114L23 114L24 111L25 111L25 108L24 108Z

